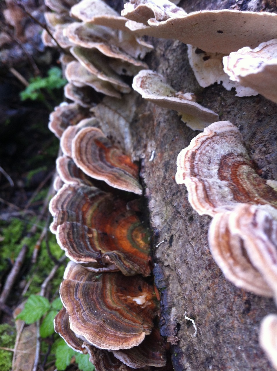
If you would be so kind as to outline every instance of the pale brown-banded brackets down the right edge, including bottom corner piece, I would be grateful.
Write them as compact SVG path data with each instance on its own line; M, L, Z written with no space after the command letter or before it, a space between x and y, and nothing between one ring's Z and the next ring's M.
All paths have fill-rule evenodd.
M194 210L213 217L208 241L225 277L277 303L277 182L260 177L238 128L214 122L193 138L178 155L176 181L187 186ZM271 327L264 320L260 343L276 367Z

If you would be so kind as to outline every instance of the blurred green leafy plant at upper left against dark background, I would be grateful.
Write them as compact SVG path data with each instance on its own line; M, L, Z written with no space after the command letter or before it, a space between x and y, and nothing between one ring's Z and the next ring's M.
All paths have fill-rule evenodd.
M21 100L25 101L26 99L31 99L32 101L42 101L48 107L49 104L47 104L46 97L42 91L43 89L51 99L56 101L57 99L53 95L52 90L62 88L67 81L62 78L62 71L59 67L50 68L47 75L48 76L44 78L40 76L31 78L29 81L30 85L20 93Z

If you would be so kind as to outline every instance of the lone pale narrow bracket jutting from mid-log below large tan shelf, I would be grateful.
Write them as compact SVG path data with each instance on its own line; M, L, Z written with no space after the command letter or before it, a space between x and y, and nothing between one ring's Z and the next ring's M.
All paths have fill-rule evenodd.
M207 125L218 120L218 115L193 101L192 93L175 91L159 73L141 70L133 78L132 88L142 98L161 107L174 109L182 115L182 121L192 130L203 130Z

